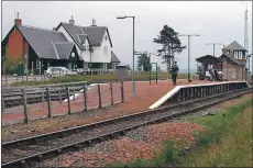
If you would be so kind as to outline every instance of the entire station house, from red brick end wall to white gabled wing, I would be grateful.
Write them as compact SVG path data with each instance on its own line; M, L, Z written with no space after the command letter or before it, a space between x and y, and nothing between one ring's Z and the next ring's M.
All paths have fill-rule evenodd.
M95 20L90 26L75 25L73 16L68 23L61 22L57 27L46 30L23 25L18 14L1 46L3 53L8 51L8 59L21 59L29 70L36 69L34 74L56 66L114 71L120 64L112 52L108 27L97 26Z

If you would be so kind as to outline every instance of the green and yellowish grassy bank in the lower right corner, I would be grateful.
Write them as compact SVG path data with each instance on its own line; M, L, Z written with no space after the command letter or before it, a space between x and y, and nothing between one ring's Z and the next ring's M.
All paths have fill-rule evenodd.
M182 158L182 166L252 167L252 99L223 114L198 120L207 131L196 134L199 149Z

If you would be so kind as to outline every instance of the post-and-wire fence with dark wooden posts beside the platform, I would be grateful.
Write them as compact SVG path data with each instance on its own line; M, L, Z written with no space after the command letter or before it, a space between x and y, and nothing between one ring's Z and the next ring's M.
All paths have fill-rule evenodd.
M2 89L2 125L86 112L124 102L123 82Z

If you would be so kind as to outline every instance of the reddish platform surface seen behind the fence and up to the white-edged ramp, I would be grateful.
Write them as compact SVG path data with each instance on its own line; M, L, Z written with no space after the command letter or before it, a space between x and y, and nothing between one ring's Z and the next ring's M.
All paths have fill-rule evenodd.
M190 85L206 83L206 82L211 82L211 81L196 80L193 81ZM189 85L189 82L187 81L187 79L179 79L177 81L177 86L182 86L182 85ZM113 85L114 102L121 101L120 86L121 83ZM109 87L110 87L109 85L101 85L101 99L103 105L110 104L111 102ZM125 102L121 104L117 104L113 108L110 108L110 113L113 116L118 116L121 114L130 114L130 113L148 110L148 107L151 104L157 101L161 97L163 97L174 87L175 86L173 86L172 80L161 80L158 81L157 85L155 83L155 81L152 81L152 85L150 85L148 81L139 81L135 82L135 97L132 98L132 82L127 81L124 82ZM97 87L91 89L88 93L88 107L89 109L94 109L98 107ZM2 113L2 125L23 121L24 114L22 109L23 109L22 107L20 109L18 108L16 113ZM79 96L75 101L72 100L70 109L72 109L72 113L84 110L84 97ZM107 109L102 111L105 111L105 114L107 113L106 112ZM64 115L67 113L68 113L67 102L52 102L52 115ZM118 115L113 113L118 113ZM29 115L29 120L47 117L48 115L47 102L29 105L28 115Z

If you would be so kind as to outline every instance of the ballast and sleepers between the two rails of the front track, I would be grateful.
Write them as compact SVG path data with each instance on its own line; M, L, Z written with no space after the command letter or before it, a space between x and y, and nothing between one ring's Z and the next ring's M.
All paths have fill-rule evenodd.
M11 149L2 148L2 163L9 163L13 159L19 159L21 157L28 157L29 155L42 153L42 152L57 148L61 146L65 146L65 145L72 144L72 143L77 143L80 141L85 141L87 138L92 138L94 136L101 135L101 133L107 134L107 133L114 132L114 131L118 131L121 128L125 128L125 127L139 124L140 121L141 122L152 121L154 119L157 119L157 117L161 117L164 115L168 115L172 112L177 113L177 112L180 112L182 110L185 110L187 108L191 109L195 105L180 105L180 107L177 107L177 108L174 108L174 109L170 109L167 111L163 111L160 113L152 113L152 115L139 115L139 116L132 117L131 120L123 120L123 121L110 123L107 125L100 125L100 126L85 130L85 131L81 131L80 133L75 133L75 134L72 134L72 135L68 135L65 137L59 137L59 138L50 139L46 142L41 142L38 145L25 145L24 147L21 147L22 150L20 150L18 153L15 150L13 152L12 148ZM201 105L202 105L202 103L201 103ZM20 149L20 147L19 147L19 149Z

